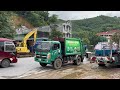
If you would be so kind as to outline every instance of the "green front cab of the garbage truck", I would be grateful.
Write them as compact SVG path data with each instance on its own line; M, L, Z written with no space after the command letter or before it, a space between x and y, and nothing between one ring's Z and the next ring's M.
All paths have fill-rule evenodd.
M47 64L51 64L55 58L61 57L61 52L60 42L41 41L36 48L35 61L40 62L41 66L46 66Z

